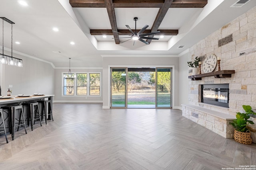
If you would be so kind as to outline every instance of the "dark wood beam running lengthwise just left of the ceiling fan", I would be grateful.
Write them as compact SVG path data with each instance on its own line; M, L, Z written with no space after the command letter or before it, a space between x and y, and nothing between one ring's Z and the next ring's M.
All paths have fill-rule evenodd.
M114 10L112 0L104 0L104 1L108 11L108 18L110 21L111 28L113 31L116 31L116 32L113 32L115 42L116 44L120 44L120 40L117 33L118 30L117 30L117 24L116 24L116 15L115 15L115 10Z

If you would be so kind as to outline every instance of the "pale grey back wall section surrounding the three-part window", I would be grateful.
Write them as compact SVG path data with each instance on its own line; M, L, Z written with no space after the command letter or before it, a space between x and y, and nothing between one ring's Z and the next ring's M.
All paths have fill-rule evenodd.
M101 96L62 96L62 73L68 72L68 68L63 69L55 69L55 96L54 102L69 102L69 103L102 103L102 94ZM74 69L71 68L71 72L100 72L102 76L102 68L93 68L93 69ZM101 78L102 80L102 78ZM102 90L102 82L101 82L101 90ZM102 92L101 92L102 93Z

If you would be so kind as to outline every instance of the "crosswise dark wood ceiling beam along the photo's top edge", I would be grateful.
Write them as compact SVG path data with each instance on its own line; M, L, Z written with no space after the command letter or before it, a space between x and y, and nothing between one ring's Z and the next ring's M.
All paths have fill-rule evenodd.
M170 8L204 8L208 0L173 0ZM69 0L76 8L106 8L104 0ZM114 8L161 8L164 0L112 0Z

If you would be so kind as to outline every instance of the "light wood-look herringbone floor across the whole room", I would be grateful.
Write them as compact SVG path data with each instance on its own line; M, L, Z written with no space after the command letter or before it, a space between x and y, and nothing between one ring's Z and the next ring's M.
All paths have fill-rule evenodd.
M0 170L221 170L256 165L242 145L176 109L102 109L53 104L54 121L0 136Z

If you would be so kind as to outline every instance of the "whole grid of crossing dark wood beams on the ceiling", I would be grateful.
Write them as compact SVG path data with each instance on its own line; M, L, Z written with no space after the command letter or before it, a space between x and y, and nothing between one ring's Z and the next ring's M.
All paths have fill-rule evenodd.
M157 8L158 12L151 29L147 29L143 33L160 31L156 35L177 35L178 29L159 29L169 8L204 8L207 4L207 0L70 0L69 2L73 8L106 8L112 29L90 29L90 34L113 35L116 44L120 44L119 35L130 35L131 32L128 29L118 29L115 8ZM141 9L136 10L140 11ZM132 31L138 32L134 29ZM154 37L154 35L148 35L148 37ZM148 43L151 41L152 39L146 40Z

